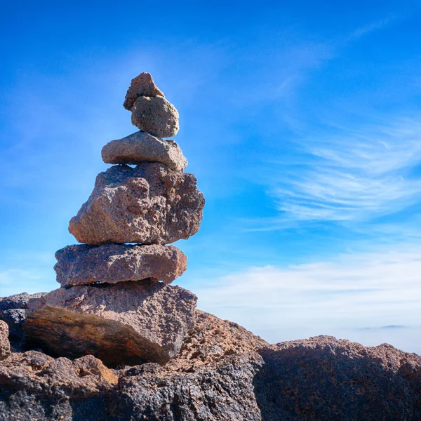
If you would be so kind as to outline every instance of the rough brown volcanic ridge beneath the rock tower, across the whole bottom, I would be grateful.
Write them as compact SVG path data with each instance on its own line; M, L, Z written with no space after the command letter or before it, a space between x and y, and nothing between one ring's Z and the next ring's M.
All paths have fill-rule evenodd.
M0 362L0 420L226 419L421 420L421 357L328 336L269 345L196 311L163 366L112 369L34 350Z

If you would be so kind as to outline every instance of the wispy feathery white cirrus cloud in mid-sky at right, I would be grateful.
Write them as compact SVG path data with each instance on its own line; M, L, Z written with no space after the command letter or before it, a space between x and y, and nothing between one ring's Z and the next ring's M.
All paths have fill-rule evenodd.
M271 194L284 218L366 221L421 200L421 124L413 119L303 139L305 160L281 166Z

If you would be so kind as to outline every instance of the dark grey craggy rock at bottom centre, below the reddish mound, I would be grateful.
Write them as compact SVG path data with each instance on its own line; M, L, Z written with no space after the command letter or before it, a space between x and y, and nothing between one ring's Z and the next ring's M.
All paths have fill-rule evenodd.
M132 368L119 379L115 415L118 420L261 421L252 384L261 365L258 354L242 354L194 373Z

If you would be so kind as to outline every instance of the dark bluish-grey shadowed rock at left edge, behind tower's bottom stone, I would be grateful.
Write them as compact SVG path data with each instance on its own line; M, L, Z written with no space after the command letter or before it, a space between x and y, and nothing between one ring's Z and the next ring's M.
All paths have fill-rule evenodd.
M8 324L9 340L13 349L21 350L23 345L22 323L25 321L25 311L30 298L40 298L46 293L21 293L0 298L0 320Z

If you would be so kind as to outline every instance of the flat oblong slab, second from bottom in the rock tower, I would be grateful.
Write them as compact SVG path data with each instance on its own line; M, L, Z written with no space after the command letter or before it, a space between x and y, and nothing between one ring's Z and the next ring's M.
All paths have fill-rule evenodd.
M171 283L187 269L187 258L175 246L67 246L55 253L61 286L152 279Z

